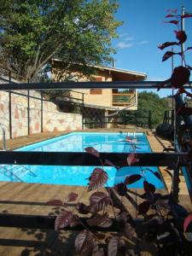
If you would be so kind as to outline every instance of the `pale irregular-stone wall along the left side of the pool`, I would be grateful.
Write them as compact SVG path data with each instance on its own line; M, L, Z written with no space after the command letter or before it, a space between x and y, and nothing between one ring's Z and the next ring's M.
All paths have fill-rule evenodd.
M17 91L27 94L26 90ZM30 90L30 96L40 98L38 91ZM11 93L12 137L28 135L27 97ZM30 134L41 132L41 101L30 97ZM0 123L5 126L9 138L9 92L0 91ZM62 113L52 102L43 102L43 131L73 131L82 128L82 116L76 113ZM2 132L0 132L2 139Z

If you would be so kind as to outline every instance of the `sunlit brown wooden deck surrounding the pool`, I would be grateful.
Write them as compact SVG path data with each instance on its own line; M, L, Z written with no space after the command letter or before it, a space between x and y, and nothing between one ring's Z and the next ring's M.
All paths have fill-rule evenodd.
M48 137L55 137L63 132L36 134L29 137L20 137L8 141L8 148L18 148L22 145L44 140ZM152 131L146 132L148 141L153 151L161 152L163 148L171 147L172 143L156 137ZM166 187L169 190L171 178L166 172L160 169L164 177ZM183 207L189 211L192 210L189 201L188 191L183 180L179 194L179 200ZM78 193L77 201L88 204L90 193L86 193L85 187L80 186L62 186L37 183L0 183L0 212L34 214L34 215L55 215L58 213L58 207L46 205L47 201L59 199L65 201L70 192ZM166 190L160 191L166 193ZM142 190L137 191L143 193ZM135 199L135 190L131 190L131 196ZM141 201L137 196L137 202ZM75 203L75 202L74 202ZM71 210L75 211L73 204L67 204ZM137 211L134 203L123 201L124 206L129 209L132 217L137 217ZM108 207L108 212L112 212ZM19 255L75 255L74 237L76 232L54 230L36 230L36 229L17 229L0 227L0 255L19 256Z

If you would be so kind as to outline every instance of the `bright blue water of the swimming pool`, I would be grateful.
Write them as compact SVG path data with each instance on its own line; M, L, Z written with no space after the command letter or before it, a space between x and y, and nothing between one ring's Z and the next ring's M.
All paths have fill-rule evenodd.
M19 148L17 151L61 151L61 152L84 152L84 148L94 147L99 152L131 152L131 144L125 142L125 137L136 139L137 152L150 152L148 139L143 133L104 133L104 132L72 132L67 135L52 138L41 143ZM95 166L0 166L0 181L13 181L25 183L49 183L86 186L87 178ZM147 167L122 167L119 171L116 168L104 167L108 172L108 186L121 183L125 177L135 173L144 173L149 183L154 183L157 189L164 188L164 184L145 170ZM152 171L156 167L148 166ZM143 179L130 185L130 188L142 188Z

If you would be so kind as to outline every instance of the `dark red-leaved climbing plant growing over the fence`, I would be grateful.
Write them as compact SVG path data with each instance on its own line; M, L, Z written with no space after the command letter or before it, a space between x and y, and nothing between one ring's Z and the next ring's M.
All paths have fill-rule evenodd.
M171 14L166 17L176 17L176 20L170 20L169 23L177 25L180 18L187 16L176 15L176 11L172 10ZM178 30L176 35L178 42L166 42L160 48L164 49L173 44L180 46L186 39L185 33ZM166 53L166 55L171 54ZM169 82L174 88L179 89L178 93L182 91L186 93L183 83L189 82L190 68L189 66L177 68ZM182 108L177 110L177 113L179 112L182 112ZM139 166L137 139L125 137L121 142L128 143L131 147L131 152L127 154L127 166L132 166L135 163ZM189 147L189 162L191 163L192 143L183 141L183 145L186 143ZM151 172L155 178L161 181L160 173L141 166L139 174L127 175L124 181L116 184L113 188L108 188L108 174L105 172L105 166L113 166L117 172L119 172L120 166L111 160L102 159L96 148L88 147L84 150L101 162L101 167L96 167L88 178L89 205L77 201L81 196L75 194L70 194L67 198L67 202L77 201L76 207L72 211L69 211L62 201L48 202L51 205L61 206L61 212L55 219L55 230L67 226L82 227L75 238L76 252L79 255L141 255L143 243L153 244L156 255L166 255L167 252L170 255L191 255L191 242L188 241L189 238L186 234L192 222L192 215L188 215L188 212L177 203L177 193L174 188L175 184L179 183L179 178L170 172L171 170L177 171L177 163L172 163L172 166L166 168L166 172L172 178L172 189L167 195L158 193L154 184L149 183L145 175L146 172ZM168 150L174 150L174 148L166 148L165 151ZM143 182L143 194L139 194L137 190L133 193L129 189L129 186L137 181ZM107 187L105 187L106 185ZM122 204L123 199L128 200L136 208L137 216L143 216L143 222L137 222L131 218L129 209L125 209ZM108 213L109 209L113 214ZM85 222L80 218L82 214L89 216ZM101 233L94 229L104 231L113 226L115 226L113 232Z

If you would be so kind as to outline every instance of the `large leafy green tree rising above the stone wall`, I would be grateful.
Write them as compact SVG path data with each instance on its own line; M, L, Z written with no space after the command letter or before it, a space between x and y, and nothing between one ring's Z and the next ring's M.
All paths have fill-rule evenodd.
M114 51L121 22L116 0L0 0L0 57L11 71L34 78L51 58L80 65L102 64Z

